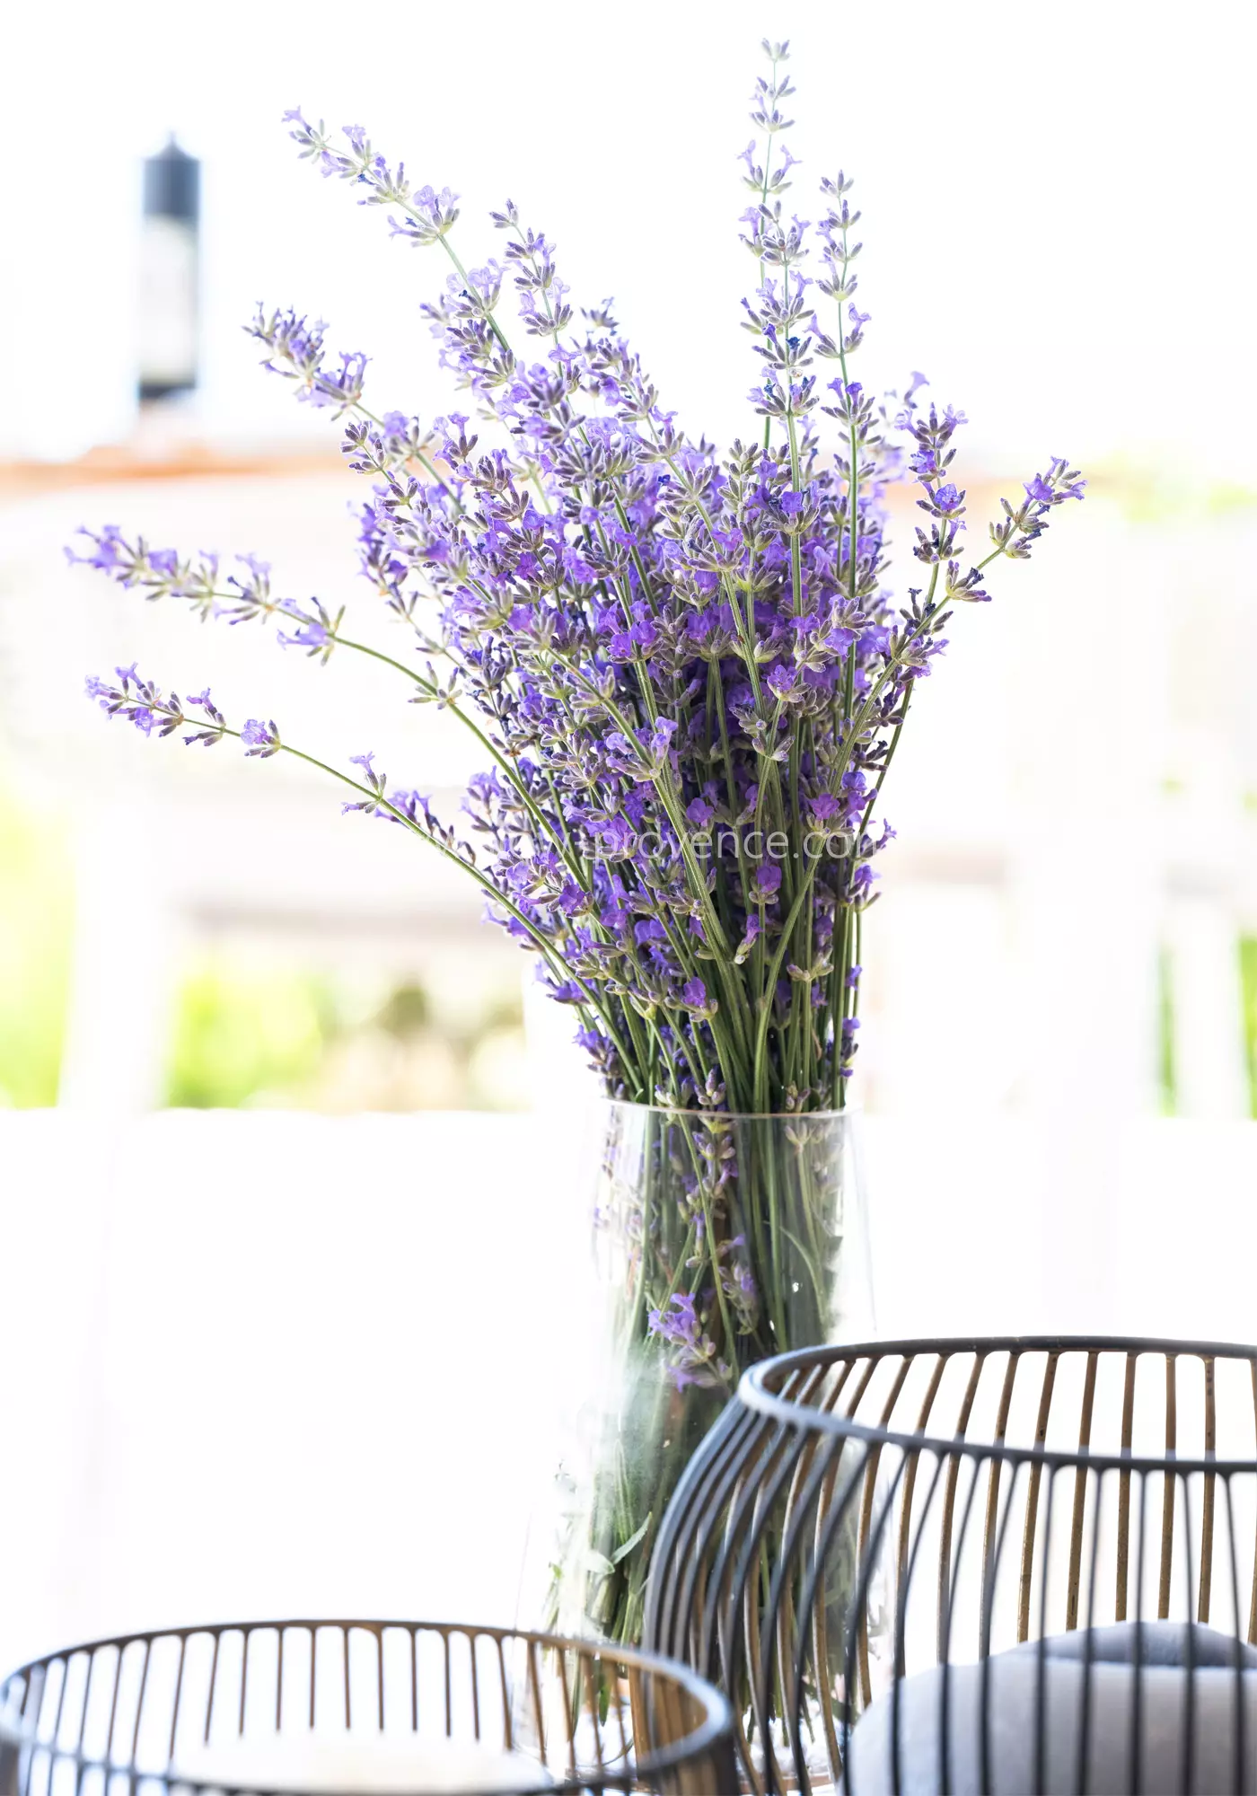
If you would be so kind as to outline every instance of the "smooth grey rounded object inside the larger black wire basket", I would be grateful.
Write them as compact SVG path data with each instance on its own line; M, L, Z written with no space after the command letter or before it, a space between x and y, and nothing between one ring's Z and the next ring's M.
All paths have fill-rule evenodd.
M1090 1679L1086 1778L1094 1796L1126 1796L1135 1787L1131 1755L1135 1717L1135 1624L1095 1629L1092 1665L1083 1660L1083 1634L1043 1643L1042 1703L1045 1760L1036 1774L1040 1719L1040 1647L1031 1642L988 1660L984 1704L982 1665L948 1672L948 1762L954 1796L1067 1796L1079 1789L1083 1692ZM1140 1642L1140 1789L1174 1796L1185 1789L1187 1672L1182 1668L1187 1629L1144 1624ZM1257 1654L1244 1647L1234 1670L1235 1643L1214 1629L1192 1629L1198 1668L1194 1688L1194 1765L1191 1789L1200 1796L1234 1791L1235 1724L1243 1710L1244 1765L1241 1791L1257 1796ZM1226 1658L1219 1658L1221 1654ZM1232 1667L1232 1668L1228 1668ZM989 1785L982 1776L982 1713L988 1715ZM898 1789L934 1796L941 1778L943 1670L932 1667L903 1679L898 1690ZM889 1796L896 1789L892 1758L894 1697L871 1704L851 1735L846 1796Z

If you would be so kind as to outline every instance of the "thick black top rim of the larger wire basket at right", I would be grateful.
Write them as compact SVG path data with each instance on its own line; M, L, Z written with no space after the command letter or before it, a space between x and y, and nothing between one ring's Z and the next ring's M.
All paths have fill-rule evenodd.
M738 1401L760 1415L772 1417L788 1428L810 1433L826 1433L842 1440L862 1440L869 1446L892 1446L907 1453L936 1453L948 1458L968 1460L1004 1460L1007 1464L1045 1466L1049 1471L1119 1471L1119 1473L1169 1473L1191 1475L1210 1473L1228 1478L1241 1473L1257 1475L1257 1451L1250 1458L1217 1458L1216 1455L1183 1457L1173 1449L1149 1453L1095 1453L1090 1448L1042 1448L1018 1446L1006 1440L971 1440L964 1435L932 1435L880 1428L873 1422L853 1422L844 1415L796 1403L779 1392L769 1390L765 1381L772 1376L815 1370L842 1360L887 1360L914 1358L918 1354L936 1354L952 1358L955 1354L997 1354L1024 1352L1049 1354L1104 1354L1122 1352L1140 1356L1146 1352L1164 1354L1174 1360L1241 1360L1253 1367L1257 1379L1257 1347L1243 1342L1201 1342L1173 1340L1155 1334L957 1334L925 1336L914 1340L876 1340L876 1342L840 1342L824 1347L796 1347L792 1352L774 1354L749 1367L738 1381ZM1257 1390L1257 1385L1255 1385Z

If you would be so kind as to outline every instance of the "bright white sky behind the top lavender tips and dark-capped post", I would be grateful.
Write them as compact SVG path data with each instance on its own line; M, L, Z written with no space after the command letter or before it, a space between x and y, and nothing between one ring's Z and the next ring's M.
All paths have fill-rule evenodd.
M866 379L923 368L1000 471L1126 454L1257 481L1255 31L1225 0L25 5L0 74L0 454L126 435L136 160L169 128L205 160L207 429L318 422L235 329L257 298L370 350L381 404L447 402L418 318L440 251L390 242L300 163L289 104L461 192L465 260L515 198L576 298L616 295L668 401L743 431L734 154L763 32L794 45L794 205L815 216L821 172L857 176Z

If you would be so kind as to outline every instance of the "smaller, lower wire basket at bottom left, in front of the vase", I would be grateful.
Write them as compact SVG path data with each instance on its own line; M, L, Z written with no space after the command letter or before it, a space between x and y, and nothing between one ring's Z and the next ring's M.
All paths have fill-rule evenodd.
M738 1787L729 1704L691 1670L505 1627L235 1622L97 1640L14 1672L0 1730L5 1717L0 1796Z

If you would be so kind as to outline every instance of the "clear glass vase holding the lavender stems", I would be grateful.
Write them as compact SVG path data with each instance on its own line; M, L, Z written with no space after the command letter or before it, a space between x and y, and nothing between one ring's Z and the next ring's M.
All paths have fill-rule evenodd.
M663 1512L742 1372L873 1333L858 1117L607 1103L591 1232L546 1624L632 1643Z

